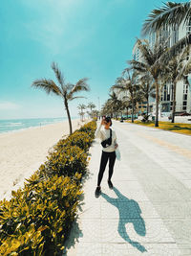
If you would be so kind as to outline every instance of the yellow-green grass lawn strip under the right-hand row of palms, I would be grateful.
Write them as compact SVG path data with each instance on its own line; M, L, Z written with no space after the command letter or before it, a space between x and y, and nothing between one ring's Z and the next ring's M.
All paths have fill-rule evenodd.
M131 123L131 121L125 121ZM155 128L155 122L142 123L139 120L135 120L134 124L140 126ZM170 122L159 122L159 128L169 131L178 132L181 134L191 135L191 124L182 124L182 123L170 123Z

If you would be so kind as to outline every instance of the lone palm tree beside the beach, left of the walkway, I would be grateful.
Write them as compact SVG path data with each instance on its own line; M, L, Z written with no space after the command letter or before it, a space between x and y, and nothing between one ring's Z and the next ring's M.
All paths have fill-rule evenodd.
M71 82L66 83L61 71L58 69L58 66L55 62L52 63L52 68L58 81L58 85L55 84L53 80L41 79L33 81L32 86L35 88L42 88L46 91L46 93L53 93L62 98L69 120L70 134L72 134L73 128L69 111L69 102L77 98L84 98L82 96L75 96L75 94L80 91L89 91L89 85L87 84L88 79L80 79L75 84Z

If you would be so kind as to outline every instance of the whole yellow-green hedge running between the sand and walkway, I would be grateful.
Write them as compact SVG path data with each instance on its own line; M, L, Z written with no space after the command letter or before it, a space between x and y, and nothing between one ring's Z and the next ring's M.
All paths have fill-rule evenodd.
M0 255L51 256L63 250L95 130L96 122L90 122L60 140L24 188L0 201Z

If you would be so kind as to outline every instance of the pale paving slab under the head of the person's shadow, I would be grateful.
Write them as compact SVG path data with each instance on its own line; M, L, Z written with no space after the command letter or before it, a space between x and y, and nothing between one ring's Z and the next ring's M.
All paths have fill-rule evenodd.
M107 243L175 243L159 219L102 220L101 236Z

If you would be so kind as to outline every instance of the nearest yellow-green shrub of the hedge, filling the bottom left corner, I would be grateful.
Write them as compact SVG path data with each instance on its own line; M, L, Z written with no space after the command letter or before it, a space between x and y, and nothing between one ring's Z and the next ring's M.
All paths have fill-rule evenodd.
M12 192L10 201L0 203L0 255L53 255L61 250L80 194L80 185L57 175Z

